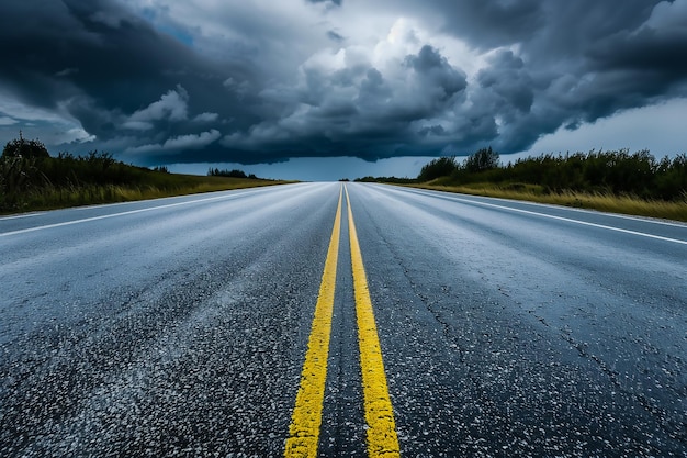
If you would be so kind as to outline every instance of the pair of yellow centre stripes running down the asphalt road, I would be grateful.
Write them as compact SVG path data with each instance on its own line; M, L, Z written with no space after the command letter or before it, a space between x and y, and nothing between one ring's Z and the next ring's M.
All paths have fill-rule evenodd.
M286 458L317 456L325 383L327 380L327 359L329 356L331 312L334 310L334 292L336 289L344 190L346 190L348 206L348 233L350 237L353 293L358 321L358 344L360 348L365 422L368 424L368 456L371 458L401 456L394 412L388 396L382 350L353 222L353 212L351 211L348 189L342 187L339 191L339 203L334 219L334 228L319 286L319 295L315 305L315 316L307 343L305 362L301 372L301 386L291 416L289 438L286 439L284 450L284 457Z

